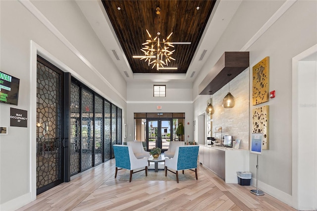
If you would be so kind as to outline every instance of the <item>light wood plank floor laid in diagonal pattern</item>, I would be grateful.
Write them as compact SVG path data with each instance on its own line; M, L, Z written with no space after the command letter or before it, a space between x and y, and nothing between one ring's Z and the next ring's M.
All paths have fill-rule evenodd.
M198 180L120 181L114 178L114 159L72 177L37 196L19 211L294 211L265 194L250 193L253 186L226 184L202 165ZM195 175L195 172L185 171Z

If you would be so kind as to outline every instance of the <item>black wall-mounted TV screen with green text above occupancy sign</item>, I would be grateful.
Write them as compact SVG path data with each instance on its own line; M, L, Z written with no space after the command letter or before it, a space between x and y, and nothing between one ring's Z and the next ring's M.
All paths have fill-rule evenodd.
M18 105L20 79L0 71L0 103Z

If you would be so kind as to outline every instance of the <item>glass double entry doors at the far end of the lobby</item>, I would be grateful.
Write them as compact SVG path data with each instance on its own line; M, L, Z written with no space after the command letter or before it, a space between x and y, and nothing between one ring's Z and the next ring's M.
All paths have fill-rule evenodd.
M173 119L147 119L147 149L159 147L161 152L168 150L172 137Z

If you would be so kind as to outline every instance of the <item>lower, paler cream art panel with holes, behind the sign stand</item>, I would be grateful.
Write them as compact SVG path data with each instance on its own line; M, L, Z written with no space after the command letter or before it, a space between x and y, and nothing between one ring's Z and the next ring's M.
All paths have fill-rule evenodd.
M252 132L263 133L262 149L268 150L268 106L253 109Z

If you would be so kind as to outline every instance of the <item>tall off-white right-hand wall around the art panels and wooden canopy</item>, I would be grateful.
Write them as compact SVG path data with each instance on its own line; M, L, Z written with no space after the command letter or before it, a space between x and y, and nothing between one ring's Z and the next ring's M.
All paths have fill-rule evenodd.
M259 156L259 188L291 205L292 57L317 43L317 1L246 0L232 20L194 82L194 118L206 109L205 97L197 96L198 86L224 51L249 51L250 68L269 56L269 90L275 90L276 97L262 105L269 105L270 147ZM268 27L261 28L267 26L265 24ZM251 98L250 110L254 108ZM250 171L254 178L256 159L257 156L250 155Z

